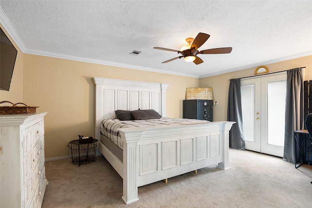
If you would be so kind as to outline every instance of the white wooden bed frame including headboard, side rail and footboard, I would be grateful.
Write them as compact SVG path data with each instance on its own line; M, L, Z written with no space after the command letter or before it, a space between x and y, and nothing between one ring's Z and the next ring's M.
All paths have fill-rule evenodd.
M115 118L115 110L154 109L166 117L168 84L93 77L96 85L95 138L103 119ZM183 90L183 89L181 89ZM121 129L122 158L98 142L98 151L123 179L122 199L138 200L143 185L217 164L229 168L229 131L235 122Z

